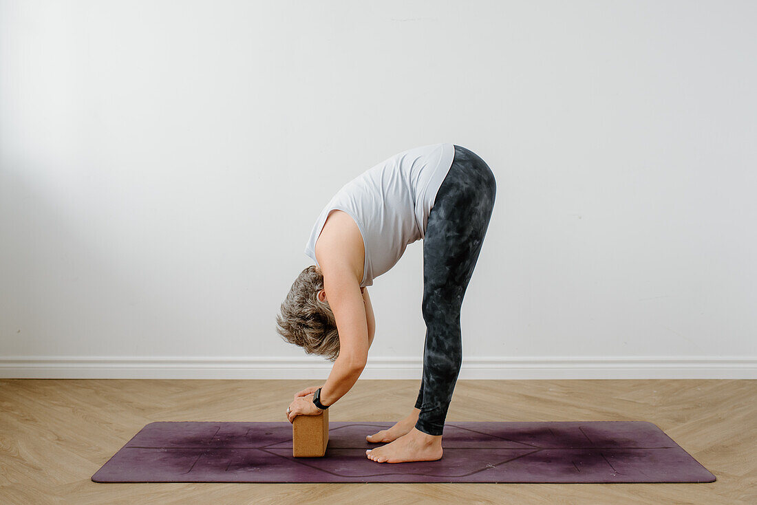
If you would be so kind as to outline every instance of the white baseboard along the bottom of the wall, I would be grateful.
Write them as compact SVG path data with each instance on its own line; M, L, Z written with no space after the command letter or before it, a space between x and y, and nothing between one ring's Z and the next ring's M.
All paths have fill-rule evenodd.
M4 379L326 379L308 357L0 357ZM420 379L422 358L369 357L361 379ZM466 357L459 379L757 379L757 357Z

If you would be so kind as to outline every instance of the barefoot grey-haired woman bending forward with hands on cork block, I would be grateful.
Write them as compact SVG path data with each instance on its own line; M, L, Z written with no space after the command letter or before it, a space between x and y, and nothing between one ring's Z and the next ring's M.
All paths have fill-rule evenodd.
M357 382L375 332L365 288L423 238L421 388L409 416L366 437L390 442L366 455L378 463L441 458L444 419L463 360L460 308L496 193L488 165L448 143L395 154L342 186L305 247L316 265L300 273L276 317L286 341L334 363L326 383L294 395L290 422L317 415Z

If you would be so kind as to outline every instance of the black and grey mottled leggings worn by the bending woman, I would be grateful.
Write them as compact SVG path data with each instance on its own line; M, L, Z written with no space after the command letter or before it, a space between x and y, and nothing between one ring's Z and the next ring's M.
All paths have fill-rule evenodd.
M491 220L497 182L472 151L455 145L423 238L423 380L416 429L441 435L463 362L460 308Z

